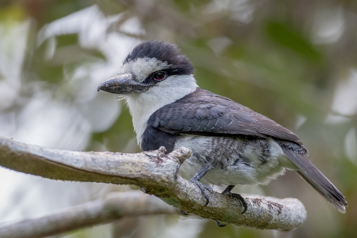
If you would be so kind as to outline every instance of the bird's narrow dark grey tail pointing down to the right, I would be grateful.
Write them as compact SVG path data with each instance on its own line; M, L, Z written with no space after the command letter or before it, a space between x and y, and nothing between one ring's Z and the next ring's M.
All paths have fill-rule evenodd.
M299 168L296 171L313 189L321 194L336 209L344 213L347 201L343 194L302 154L283 148L284 153Z

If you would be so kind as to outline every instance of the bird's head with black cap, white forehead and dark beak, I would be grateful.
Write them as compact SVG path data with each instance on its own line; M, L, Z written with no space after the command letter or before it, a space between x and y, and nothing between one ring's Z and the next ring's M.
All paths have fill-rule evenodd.
M179 89L187 80L195 84L192 73L190 60L177 45L150 40L136 45L124 59L121 72L103 81L98 91L132 95L149 93L157 87L161 91L169 87Z

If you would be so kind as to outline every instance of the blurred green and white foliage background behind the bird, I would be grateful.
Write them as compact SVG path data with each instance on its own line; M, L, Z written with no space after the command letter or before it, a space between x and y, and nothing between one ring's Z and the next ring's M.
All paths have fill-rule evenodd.
M300 199L307 220L292 231L150 216L65 237L354 237L356 13L353 0L1 0L0 134L63 149L139 151L128 110L96 87L119 72L138 42L167 40L192 60L202 88L294 131L346 196L347 212L287 172L267 186L235 191ZM127 189L135 188L0 168L0 221Z

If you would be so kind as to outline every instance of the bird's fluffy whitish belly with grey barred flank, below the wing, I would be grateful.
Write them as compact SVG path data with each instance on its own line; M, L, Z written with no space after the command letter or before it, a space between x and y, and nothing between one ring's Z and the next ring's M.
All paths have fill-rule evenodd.
M181 146L192 151L179 169L188 180L206 163L213 167L200 181L216 185L266 184L284 173L279 162L284 155L272 139L191 135L178 139L174 148Z

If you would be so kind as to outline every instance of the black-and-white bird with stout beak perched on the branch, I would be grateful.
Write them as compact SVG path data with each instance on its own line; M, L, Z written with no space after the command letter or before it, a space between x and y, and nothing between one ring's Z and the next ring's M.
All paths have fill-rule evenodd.
M306 158L308 150L290 130L227 97L200 88L194 67L177 45L148 40L123 60L120 73L97 90L121 94L141 150L160 146L191 155L179 175L199 187L208 204L210 185L225 185L247 209L236 185L267 184L286 169L296 171L341 213L343 194ZM185 214L184 211L181 211ZM217 225L224 226L217 221Z

